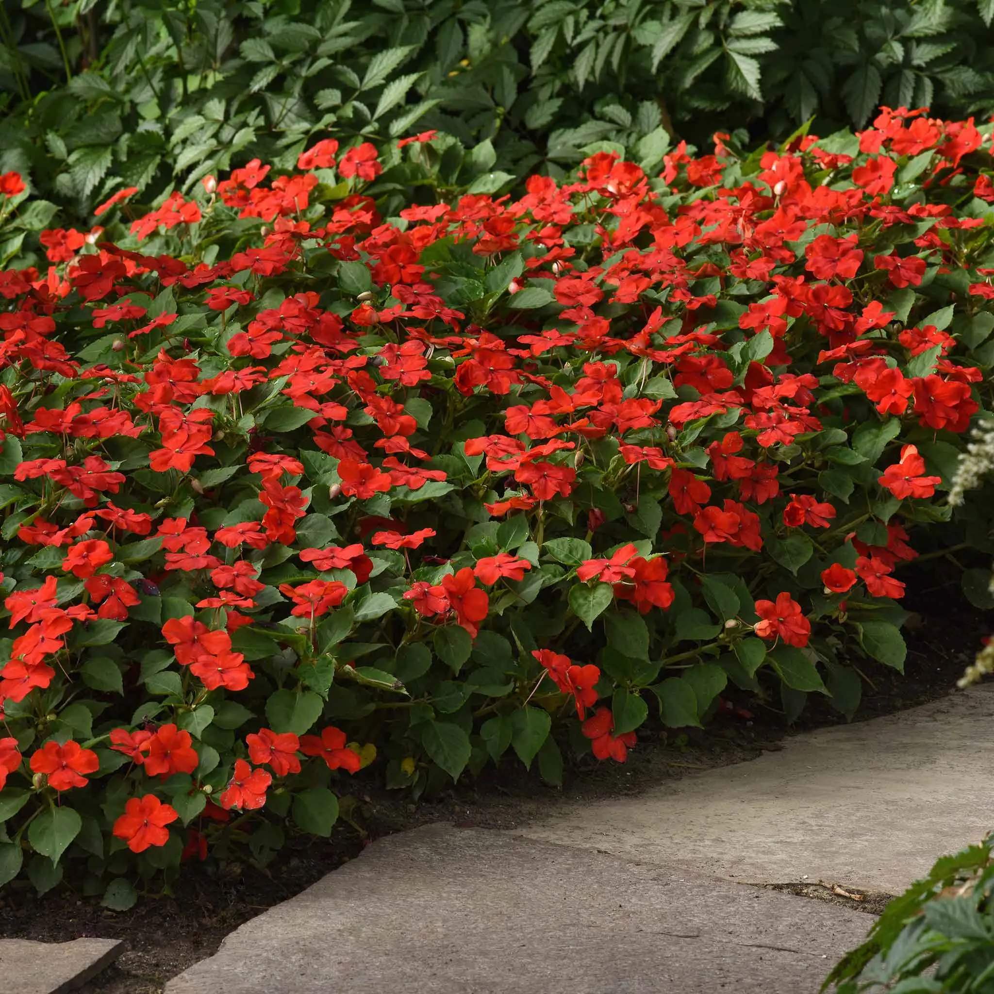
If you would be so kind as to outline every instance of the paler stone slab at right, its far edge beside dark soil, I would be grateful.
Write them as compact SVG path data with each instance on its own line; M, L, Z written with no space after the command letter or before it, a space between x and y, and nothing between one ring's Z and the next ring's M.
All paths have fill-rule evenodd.
M994 685L790 739L520 833L752 883L805 875L900 894L994 828Z

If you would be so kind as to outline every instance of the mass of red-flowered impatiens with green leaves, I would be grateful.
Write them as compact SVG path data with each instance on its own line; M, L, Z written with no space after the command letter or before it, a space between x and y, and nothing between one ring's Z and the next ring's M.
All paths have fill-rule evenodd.
M518 199L328 137L89 230L0 177L0 880L127 907L729 686L852 715L989 408L990 133L658 129Z

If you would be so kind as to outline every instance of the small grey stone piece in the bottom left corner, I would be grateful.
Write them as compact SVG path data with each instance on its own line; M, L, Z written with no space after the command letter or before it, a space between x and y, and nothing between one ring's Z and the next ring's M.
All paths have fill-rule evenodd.
M111 938L72 942L0 939L0 994L63 994L76 990L124 951Z

